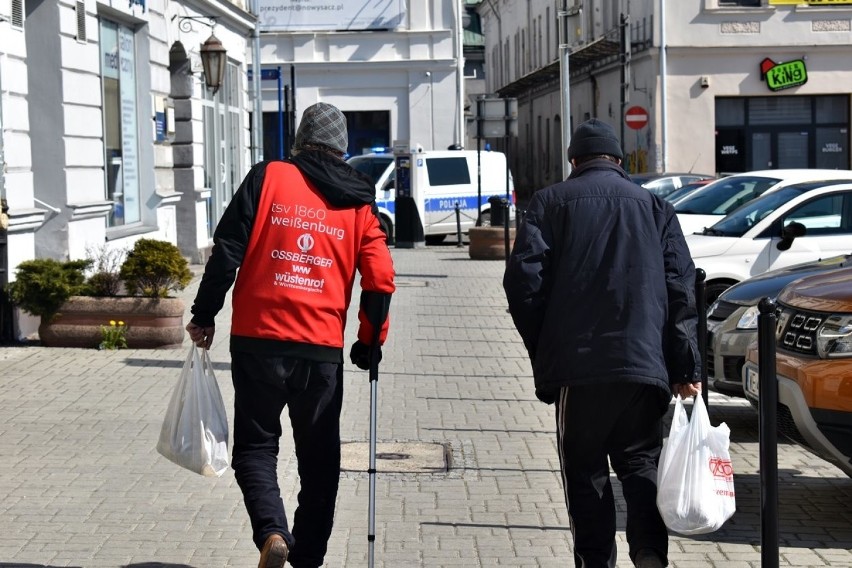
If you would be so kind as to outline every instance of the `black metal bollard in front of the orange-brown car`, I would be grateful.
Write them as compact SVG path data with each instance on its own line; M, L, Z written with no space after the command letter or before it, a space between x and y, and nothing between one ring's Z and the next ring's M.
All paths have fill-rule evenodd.
M760 566L778 567L778 378L775 374L775 302L757 305L760 423Z

